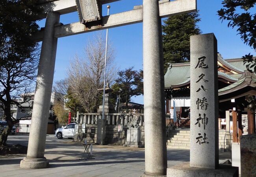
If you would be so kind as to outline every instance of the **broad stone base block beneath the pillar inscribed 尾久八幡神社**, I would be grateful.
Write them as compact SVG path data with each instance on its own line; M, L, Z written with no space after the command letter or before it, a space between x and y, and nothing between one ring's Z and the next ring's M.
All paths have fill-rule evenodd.
M167 177L238 177L238 168L220 164L217 169L190 167L184 162L167 168Z

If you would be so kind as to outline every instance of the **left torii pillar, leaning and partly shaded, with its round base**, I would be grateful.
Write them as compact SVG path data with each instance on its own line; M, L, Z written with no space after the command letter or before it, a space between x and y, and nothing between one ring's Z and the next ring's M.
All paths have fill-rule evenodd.
M46 168L49 164L44 157L50 99L58 39L54 37L54 26L59 23L59 13L49 12L37 73L37 85L32 111L28 153L20 162L21 168Z

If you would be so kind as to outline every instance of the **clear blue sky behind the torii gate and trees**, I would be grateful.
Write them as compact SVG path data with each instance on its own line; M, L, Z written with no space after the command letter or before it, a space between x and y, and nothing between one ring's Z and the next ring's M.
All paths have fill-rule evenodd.
M218 52L224 59L239 58L249 52L256 55L256 52L249 46L243 44L236 29L228 28L228 22L219 20L217 11L222 8L222 0L197 0L201 22L198 23L202 33L214 33L218 41ZM107 5L110 5L109 14L120 13L132 10L134 6L141 5L142 0L121 0L106 4L102 7L103 16L107 15ZM256 13L256 9L253 9ZM162 19L164 20L164 18ZM61 15L60 22L69 24L78 22L78 13ZM45 20L39 22L41 27L45 26ZM62 37L58 39L54 81L64 79L66 68L69 67L69 60L76 53L82 55L83 47L90 35L94 32ZM103 31L106 33L106 30ZM134 66L136 70L143 69L143 40L142 23L132 24L109 29L109 39L115 48L116 65L121 70ZM132 101L143 104L143 96L133 97Z

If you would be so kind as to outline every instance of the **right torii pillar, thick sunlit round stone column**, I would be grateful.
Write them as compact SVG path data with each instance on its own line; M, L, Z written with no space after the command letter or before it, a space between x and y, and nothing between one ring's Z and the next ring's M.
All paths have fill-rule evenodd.
M143 0L143 81L145 173L164 176L167 169L163 44L158 0Z

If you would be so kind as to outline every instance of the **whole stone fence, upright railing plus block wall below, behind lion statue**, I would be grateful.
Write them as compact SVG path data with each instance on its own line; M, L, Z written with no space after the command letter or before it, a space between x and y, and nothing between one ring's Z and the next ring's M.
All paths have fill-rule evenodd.
M124 114L124 113L105 113L107 120L105 129L105 142L106 144L124 144L127 136L128 122L132 120L135 115L141 116L139 123L141 129L141 142L144 144L144 114ZM78 129L75 133L76 141L84 141L96 143L97 140L97 122L102 118L101 113L77 113ZM122 124L122 131L118 131L118 124ZM84 126L84 127L83 127Z

